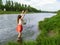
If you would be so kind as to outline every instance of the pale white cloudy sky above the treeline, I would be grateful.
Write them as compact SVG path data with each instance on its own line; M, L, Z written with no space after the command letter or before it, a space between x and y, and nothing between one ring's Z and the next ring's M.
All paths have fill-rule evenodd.
M60 10L60 0L13 0L19 3L31 5L37 9L44 11L57 11ZM5 3L5 0L3 0Z

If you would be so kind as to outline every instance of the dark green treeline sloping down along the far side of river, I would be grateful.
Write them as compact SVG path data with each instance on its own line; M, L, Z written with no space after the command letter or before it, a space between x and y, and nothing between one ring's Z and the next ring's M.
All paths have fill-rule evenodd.
M2 0L0 0L0 10L5 10L5 11L28 10L29 12L40 12L41 11L41 10L37 10L34 7L31 7L30 5L21 4L21 3L13 2L10 0L6 0L5 4L3 4Z

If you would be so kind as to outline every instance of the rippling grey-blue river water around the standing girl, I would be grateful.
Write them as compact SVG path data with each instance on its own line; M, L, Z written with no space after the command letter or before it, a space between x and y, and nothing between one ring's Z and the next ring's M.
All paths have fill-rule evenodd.
M22 38L24 40L35 40L39 34L38 22L54 15L54 13L26 14L24 17L26 24L23 25ZM0 14L0 45L2 45L2 42L17 39L17 16L18 14Z

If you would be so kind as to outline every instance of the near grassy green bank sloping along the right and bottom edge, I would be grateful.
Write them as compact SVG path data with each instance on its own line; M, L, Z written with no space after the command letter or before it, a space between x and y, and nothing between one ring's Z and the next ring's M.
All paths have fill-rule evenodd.
M45 18L44 21L38 23L41 33L36 41L23 42L9 42L7 45L60 45L60 11L57 15L51 18Z

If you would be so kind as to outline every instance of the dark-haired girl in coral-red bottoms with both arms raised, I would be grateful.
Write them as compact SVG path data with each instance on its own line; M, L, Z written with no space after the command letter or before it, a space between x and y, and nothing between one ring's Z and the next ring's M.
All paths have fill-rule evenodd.
M22 30L23 30L23 26L22 26L22 22L23 22L23 18L25 16L26 11L22 11L21 15L18 15L17 17L17 27L16 30L18 32L18 40L20 40L21 35L22 35Z

